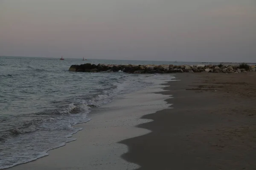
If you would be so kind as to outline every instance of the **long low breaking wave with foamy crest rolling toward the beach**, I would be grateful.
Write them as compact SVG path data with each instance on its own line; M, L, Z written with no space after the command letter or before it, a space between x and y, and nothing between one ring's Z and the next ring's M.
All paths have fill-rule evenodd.
M88 114L90 113L90 108L97 108L101 105L109 103L112 101L112 97L117 95L119 92L122 92L125 87L125 83L117 83L120 79L112 79L113 82L112 87L105 88L102 90L98 90L99 94L95 96L91 96L90 99L84 100L82 99L79 102L72 102L67 105L60 105L60 108L55 110L48 110L39 113L33 113L29 116L32 117L46 117L40 119L32 119L30 122L26 122L20 127L15 127L10 130L0 132L0 141L5 141L6 139L10 139L12 137L16 137L17 135L21 135L24 133L31 133L37 130L41 130L42 125L45 123L54 123L59 120L58 116L69 116L75 115L78 113ZM81 96L84 97L84 96ZM28 116L28 115L20 115L20 116ZM75 124L73 124L75 125ZM2 133L2 134L1 134ZM3 134L4 133L4 134Z

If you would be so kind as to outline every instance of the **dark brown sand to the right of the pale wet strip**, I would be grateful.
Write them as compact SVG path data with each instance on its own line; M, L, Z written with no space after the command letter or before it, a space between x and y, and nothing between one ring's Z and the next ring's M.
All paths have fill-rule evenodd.
M177 74L173 108L143 116L151 130L123 140L139 170L256 170L256 72Z

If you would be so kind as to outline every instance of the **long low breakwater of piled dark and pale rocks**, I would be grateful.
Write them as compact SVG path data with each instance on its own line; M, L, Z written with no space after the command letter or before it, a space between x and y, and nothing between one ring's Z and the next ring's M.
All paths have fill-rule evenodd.
M132 74L163 74L163 73L182 73L182 72L209 72L209 73L244 73L256 71L255 66L241 68L239 65L108 65L108 64L82 64L71 65L69 71L77 72L117 72L123 71Z

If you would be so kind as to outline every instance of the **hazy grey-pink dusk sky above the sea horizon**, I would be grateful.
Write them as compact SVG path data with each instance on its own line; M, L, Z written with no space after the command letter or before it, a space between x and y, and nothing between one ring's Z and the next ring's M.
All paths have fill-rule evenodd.
M256 62L256 0L0 0L0 55Z

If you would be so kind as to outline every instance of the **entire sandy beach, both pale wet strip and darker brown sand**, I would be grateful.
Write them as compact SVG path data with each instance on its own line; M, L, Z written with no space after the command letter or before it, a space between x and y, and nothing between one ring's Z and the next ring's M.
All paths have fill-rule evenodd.
M76 141L10 170L256 169L256 73L175 77L98 108Z

